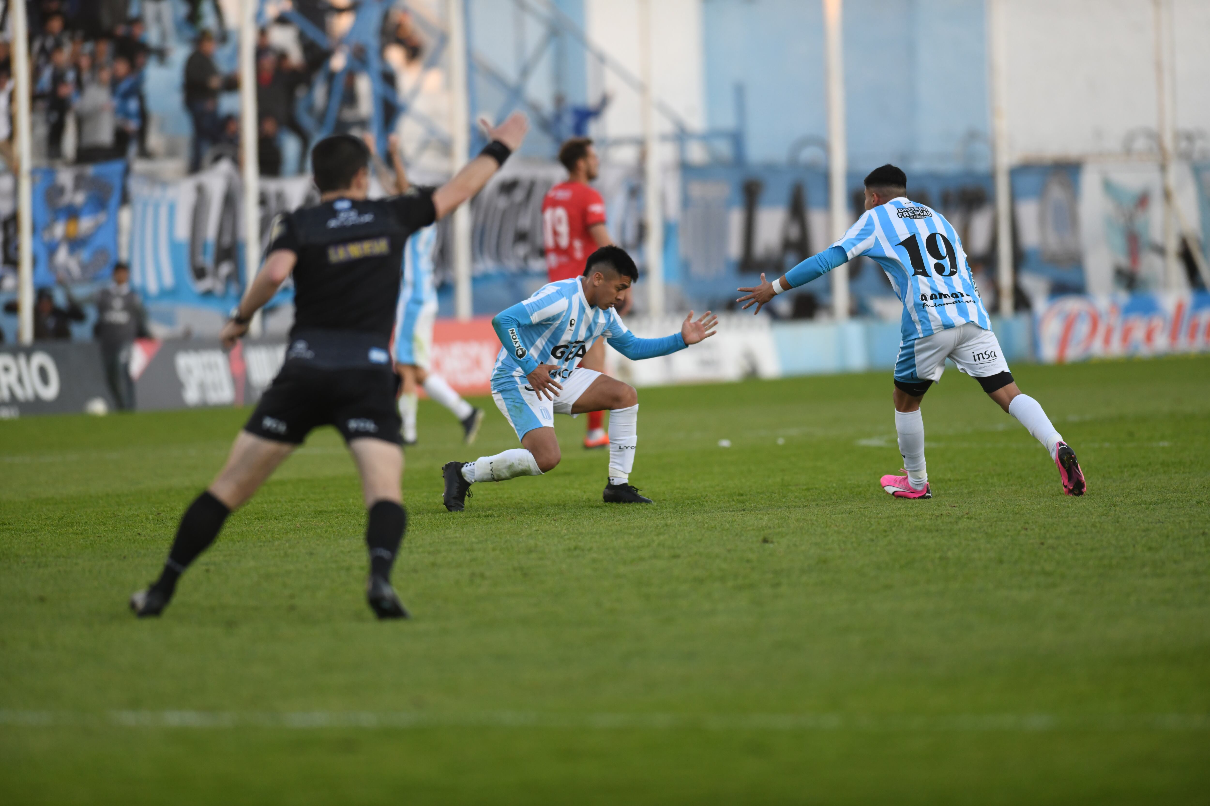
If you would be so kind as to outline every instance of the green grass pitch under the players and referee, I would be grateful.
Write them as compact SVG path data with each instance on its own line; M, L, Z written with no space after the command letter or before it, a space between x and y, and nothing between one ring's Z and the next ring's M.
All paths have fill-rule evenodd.
M448 514L515 441L424 404L402 624L334 431L137 621L247 412L0 423L0 802L1205 804L1210 359L1015 369L1084 498L953 371L929 501L877 485L885 372L640 390L650 508L560 418Z

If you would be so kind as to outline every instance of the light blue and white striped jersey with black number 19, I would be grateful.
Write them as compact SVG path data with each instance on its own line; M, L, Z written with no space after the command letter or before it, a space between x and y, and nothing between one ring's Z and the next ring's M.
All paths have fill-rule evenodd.
M903 342L973 321L991 330L962 239L945 216L900 196L866 210L832 247L887 273L904 303Z

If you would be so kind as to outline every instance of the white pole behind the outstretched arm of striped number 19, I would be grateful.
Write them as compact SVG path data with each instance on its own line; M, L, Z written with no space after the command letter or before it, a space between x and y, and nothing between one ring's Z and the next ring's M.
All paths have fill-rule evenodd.
M832 238L840 240L848 230L848 149L845 127L845 42L843 0L824 0L824 29L828 50L828 199L831 208ZM832 315L848 319L848 265L837 266L832 276Z

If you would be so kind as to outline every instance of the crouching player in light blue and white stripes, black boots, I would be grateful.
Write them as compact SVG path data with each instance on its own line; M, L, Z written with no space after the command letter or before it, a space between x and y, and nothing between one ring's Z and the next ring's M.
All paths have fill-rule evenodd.
M629 359L668 355L713 336L718 319L707 311L695 320L690 311L679 334L639 338L622 324L615 307L639 279L634 261L620 247L601 247L587 263L581 277L543 285L491 320L502 344L491 375L491 396L524 447L446 463L442 475L449 511L465 509L476 482L540 476L559 464L554 413L576 416L604 408L610 411L605 501L651 503L629 483L638 443L638 393L576 361L583 358L586 344L601 336Z

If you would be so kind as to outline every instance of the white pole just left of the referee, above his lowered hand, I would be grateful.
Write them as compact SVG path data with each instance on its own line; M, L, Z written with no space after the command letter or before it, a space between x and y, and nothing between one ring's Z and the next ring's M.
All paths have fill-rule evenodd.
M257 6L240 4L240 145L243 153L243 277L246 288L260 271L260 122L257 117ZM250 336L264 331L261 312L248 324Z

